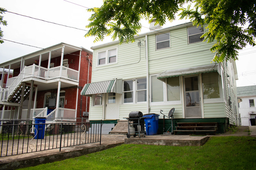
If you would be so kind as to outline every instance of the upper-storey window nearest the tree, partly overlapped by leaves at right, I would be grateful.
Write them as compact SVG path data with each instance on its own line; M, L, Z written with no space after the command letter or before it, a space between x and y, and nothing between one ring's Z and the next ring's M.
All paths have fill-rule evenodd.
M204 38L200 38L204 34L204 28L199 26L187 28L188 44L193 42L203 41Z

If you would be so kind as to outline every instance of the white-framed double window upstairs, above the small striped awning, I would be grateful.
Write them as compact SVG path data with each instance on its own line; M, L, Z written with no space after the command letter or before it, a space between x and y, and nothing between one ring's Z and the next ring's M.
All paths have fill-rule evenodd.
M117 62L117 49L110 49L98 53L98 66Z

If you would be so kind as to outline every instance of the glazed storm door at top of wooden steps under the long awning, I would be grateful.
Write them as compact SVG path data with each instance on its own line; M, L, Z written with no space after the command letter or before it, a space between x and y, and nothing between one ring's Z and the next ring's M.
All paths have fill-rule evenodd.
M200 118L201 104L198 76L184 77L185 118Z

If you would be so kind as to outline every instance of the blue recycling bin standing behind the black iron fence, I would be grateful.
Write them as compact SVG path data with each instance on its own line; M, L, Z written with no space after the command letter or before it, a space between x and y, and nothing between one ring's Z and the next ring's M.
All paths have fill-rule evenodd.
M45 137L46 117L35 117L35 139L44 139Z

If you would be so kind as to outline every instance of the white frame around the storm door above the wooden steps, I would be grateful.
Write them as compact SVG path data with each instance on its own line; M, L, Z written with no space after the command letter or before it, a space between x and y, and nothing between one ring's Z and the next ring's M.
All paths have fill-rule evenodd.
M186 86L185 86L185 78L187 77L197 77L198 78L198 95L199 95L199 106L200 106L200 117L186 117ZM183 107L184 107L184 118L185 119L194 119L194 118L204 118L204 112L203 112L203 98L202 98L202 75L201 74L195 74L195 75L187 75L182 77L182 96L183 96Z

